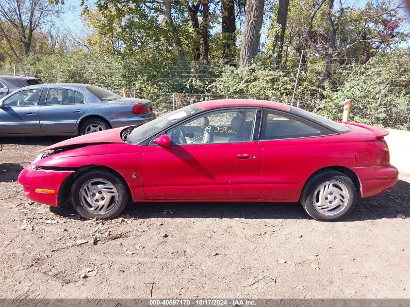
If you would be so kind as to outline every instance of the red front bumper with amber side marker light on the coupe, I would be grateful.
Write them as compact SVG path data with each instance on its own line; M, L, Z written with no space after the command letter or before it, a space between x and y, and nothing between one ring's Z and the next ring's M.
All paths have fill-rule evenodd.
M72 173L74 171L33 169L33 165L30 164L21 171L17 181L23 186L23 194L29 199L49 206L59 207L58 194L60 187ZM46 193L44 190L46 190Z

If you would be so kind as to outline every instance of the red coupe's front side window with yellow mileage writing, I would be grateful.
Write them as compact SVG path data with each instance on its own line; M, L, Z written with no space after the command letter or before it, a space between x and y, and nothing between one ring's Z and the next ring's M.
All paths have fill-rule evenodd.
M169 131L171 145L250 142L256 110L239 109L206 113Z

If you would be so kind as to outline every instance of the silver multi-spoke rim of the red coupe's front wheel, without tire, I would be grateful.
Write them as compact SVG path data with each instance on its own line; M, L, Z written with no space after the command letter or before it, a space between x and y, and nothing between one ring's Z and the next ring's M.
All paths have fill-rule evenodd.
M96 178L86 181L79 193L82 207L93 214L105 214L118 202L118 191L108 180Z

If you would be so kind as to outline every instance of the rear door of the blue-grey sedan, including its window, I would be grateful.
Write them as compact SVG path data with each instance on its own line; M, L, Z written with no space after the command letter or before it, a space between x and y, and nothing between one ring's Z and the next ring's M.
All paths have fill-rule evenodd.
M49 88L40 107L40 127L45 133L76 133L76 123L88 109L88 99L79 91Z

